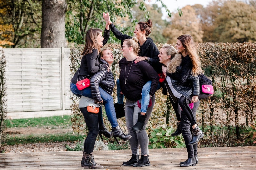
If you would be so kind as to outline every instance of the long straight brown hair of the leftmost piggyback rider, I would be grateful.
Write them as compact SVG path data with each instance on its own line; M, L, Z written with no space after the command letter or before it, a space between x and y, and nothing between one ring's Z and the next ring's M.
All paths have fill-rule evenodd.
M93 49L98 50L98 54L101 52L101 47L98 44L97 37L101 33L101 29L90 28L85 35L85 46L82 55L92 54Z

